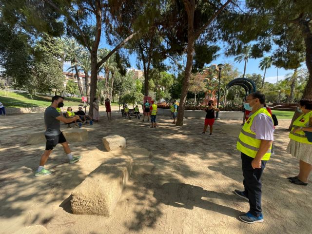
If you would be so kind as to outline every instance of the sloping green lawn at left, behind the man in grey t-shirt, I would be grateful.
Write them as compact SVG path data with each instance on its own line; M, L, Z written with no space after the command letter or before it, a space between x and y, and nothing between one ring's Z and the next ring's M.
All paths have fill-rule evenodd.
M5 96L6 94L6 96ZM31 98L27 93L7 92L0 90L0 101L5 107L47 107L51 105L49 96L36 95ZM81 98L65 98L66 106L77 106Z

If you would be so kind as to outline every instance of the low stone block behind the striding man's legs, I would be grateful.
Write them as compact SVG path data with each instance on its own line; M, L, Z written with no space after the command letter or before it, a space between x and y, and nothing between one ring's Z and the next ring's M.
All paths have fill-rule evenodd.
M62 133L67 141L85 141L88 139L88 131L82 128L77 129L66 129L62 130ZM45 143L46 139L44 137L44 131L30 133L27 135L27 144L36 145Z

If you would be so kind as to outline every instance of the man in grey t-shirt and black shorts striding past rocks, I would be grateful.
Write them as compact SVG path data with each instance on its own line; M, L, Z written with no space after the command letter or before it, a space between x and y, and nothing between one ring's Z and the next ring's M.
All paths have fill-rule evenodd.
M61 115L59 115L59 112L57 111L57 107L61 108L64 106L64 98L61 96L54 96L52 98L52 104L51 106L47 107L44 112L44 123L46 127L46 131L44 133L44 136L47 140L45 144L45 151L43 155L41 156L39 167L37 169L37 172L35 176L48 176L52 172L44 169L44 164L48 160L50 154L52 153L52 150L58 143L60 143L63 146L65 154L68 156L69 163L75 163L77 162L81 156L74 157L71 153L71 150L69 148L69 145L60 131L60 124L59 121L62 121L64 123L70 123L73 121L73 119L78 119L78 116L75 116L73 118L66 118Z

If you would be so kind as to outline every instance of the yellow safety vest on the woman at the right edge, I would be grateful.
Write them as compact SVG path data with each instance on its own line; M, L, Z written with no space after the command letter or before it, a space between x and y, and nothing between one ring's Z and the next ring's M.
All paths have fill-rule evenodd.
M308 127L310 124L310 118L312 118L312 111L308 112L307 114L302 114L296 120L293 121L292 130L294 128ZM305 144L310 144L310 145L312 144L312 142L309 142L304 131L302 130L296 133L292 133L291 131L289 134L289 138L300 143L305 143Z

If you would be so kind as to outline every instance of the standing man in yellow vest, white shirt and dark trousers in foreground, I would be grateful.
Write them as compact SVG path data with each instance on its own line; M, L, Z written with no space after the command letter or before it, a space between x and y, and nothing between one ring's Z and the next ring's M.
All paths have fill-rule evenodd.
M250 110L237 141L241 152L244 191L234 193L249 201L249 212L239 215L245 223L263 222L261 210L261 176L271 156L273 143L273 119L264 107L265 96L260 92L250 94L244 105Z

